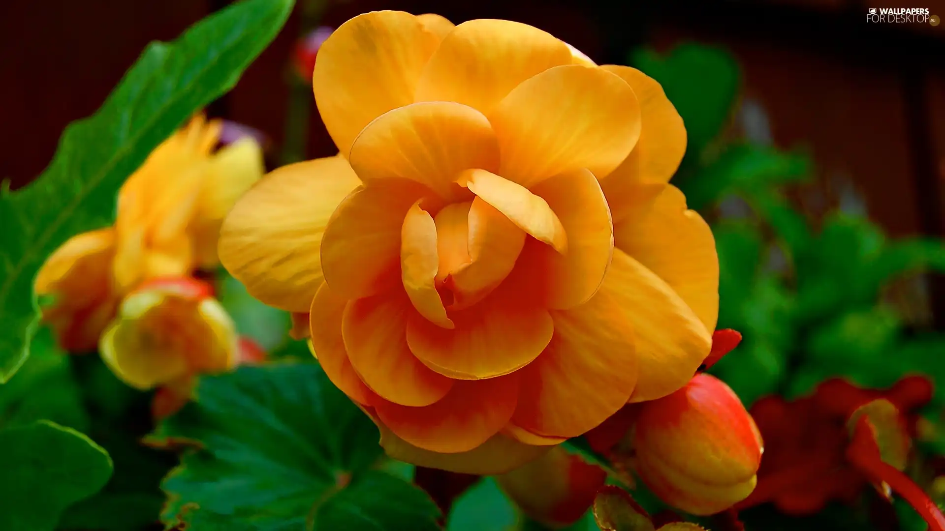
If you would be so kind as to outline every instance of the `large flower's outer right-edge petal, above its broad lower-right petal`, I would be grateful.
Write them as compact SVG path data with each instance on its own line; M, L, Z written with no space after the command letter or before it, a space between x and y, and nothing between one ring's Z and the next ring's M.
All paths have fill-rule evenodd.
M656 273L696 312L706 330L718 318L718 255L709 225L666 185L652 206L614 227L615 245Z

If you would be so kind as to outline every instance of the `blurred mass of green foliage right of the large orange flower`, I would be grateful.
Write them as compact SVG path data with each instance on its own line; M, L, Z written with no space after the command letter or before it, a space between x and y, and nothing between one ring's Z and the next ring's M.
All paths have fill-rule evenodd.
M945 333L911 318L927 302L888 296L894 283L945 271L942 242L892 240L863 214L796 208L788 194L813 180L814 164L800 151L734 140L741 76L724 50L682 44L664 56L631 53L630 62L662 83L686 124L690 142L673 183L713 227L718 328L744 336L713 372L746 405L770 394L796 398L831 377L885 387L923 374L936 389L945 385ZM945 450L943 404L936 392L924 412L937 436L920 448L936 454ZM925 528L907 505L893 512L902 529ZM743 517L749 531L879 525L862 506L846 505L802 519L761 506Z

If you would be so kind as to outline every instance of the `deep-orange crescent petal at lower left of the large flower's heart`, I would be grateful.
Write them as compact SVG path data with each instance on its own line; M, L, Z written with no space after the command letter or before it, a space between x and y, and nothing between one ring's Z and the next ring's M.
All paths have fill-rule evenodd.
M342 321L345 348L358 375L393 403L421 406L442 399L453 380L426 368L407 348L408 315L416 315L403 295L352 300Z

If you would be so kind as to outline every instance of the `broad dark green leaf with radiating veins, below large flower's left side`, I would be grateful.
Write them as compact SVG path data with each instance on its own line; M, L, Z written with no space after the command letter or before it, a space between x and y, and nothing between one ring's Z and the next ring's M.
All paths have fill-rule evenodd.
M168 525L227 529L438 529L421 489L376 470L374 424L317 364L239 368L201 379L196 403L149 441L198 445L163 482Z

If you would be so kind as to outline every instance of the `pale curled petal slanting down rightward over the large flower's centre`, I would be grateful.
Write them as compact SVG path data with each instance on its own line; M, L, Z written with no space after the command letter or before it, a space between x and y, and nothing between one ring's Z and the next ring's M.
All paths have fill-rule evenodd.
M558 252L567 251L568 236L558 216L544 199L532 194L521 184L481 169L463 172L456 182L506 214L512 223L535 239Z

